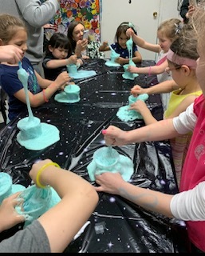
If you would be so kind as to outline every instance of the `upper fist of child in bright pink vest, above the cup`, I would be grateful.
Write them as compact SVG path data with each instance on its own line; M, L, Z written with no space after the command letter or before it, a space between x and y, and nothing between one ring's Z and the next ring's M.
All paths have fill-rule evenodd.
M102 131L106 145L123 146L126 144L127 131L121 130L116 126L108 126Z

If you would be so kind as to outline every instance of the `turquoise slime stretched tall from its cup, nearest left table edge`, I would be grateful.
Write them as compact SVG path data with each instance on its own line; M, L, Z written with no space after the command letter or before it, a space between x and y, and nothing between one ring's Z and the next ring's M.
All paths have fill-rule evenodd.
M39 118L34 117L30 107L27 88L29 74L27 74L26 70L22 68L22 62L18 62L18 66L18 79L22 82L25 90L29 117L22 118L18 121L17 126L20 132L17 134L17 141L20 145L25 146L26 149L42 150L60 140L59 130L56 126L41 123Z

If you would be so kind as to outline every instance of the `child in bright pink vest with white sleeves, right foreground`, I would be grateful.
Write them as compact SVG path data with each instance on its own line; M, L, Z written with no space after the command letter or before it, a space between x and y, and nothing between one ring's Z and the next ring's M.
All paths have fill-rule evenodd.
M195 8L192 18L198 34L199 59L195 72L203 94L196 98L195 102L178 117L155 122L136 130L124 131L116 126L109 126L107 130L103 131L106 144L112 146L122 146L132 142L160 141L193 131L183 165L179 193L175 195L164 194L159 191L144 189L124 182L119 173L107 172L95 177L97 184L100 185L96 187L99 192L118 194L146 210L164 214L168 218L186 221L187 234L191 241L191 253L205 252L205 3L201 2L200 5ZM174 57L175 54L173 59Z

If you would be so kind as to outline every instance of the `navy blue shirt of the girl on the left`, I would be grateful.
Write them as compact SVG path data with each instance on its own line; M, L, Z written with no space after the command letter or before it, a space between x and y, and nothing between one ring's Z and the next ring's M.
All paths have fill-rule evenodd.
M39 93L41 91L41 87L37 83L34 68L28 58L24 57L22 59L22 67L29 74L28 90L30 90L32 94ZM17 93L18 90L22 90L24 88L22 82L18 79L17 71L18 66L0 64L0 83L2 89L6 91L6 94L8 94L10 98L8 114L10 121L16 118L22 111L27 110L27 105L14 97L14 94Z

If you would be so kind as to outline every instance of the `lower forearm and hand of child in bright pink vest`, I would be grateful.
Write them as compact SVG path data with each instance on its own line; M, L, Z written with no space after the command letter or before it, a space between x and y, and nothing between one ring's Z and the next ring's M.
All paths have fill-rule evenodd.
M101 175L96 175L95 178L97 184L100 185L96 187L98 192L104 191L109 194L117 194L138 206L142 206L146 210L152 210L170 218L173 217L170 210L170 202L173 195L140 188L124 182L119 173L105 172Z

